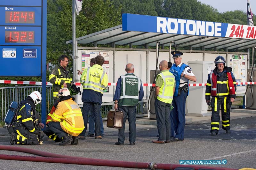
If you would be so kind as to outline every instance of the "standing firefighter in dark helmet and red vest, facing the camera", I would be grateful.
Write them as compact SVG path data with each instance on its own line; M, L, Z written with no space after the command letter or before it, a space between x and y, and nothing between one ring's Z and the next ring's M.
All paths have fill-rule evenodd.
M215 69L208 76L205 88L205 100L212 107L211 135L217 135L220 125L220 106L222 129L230 133L230 107L236 98L236 78L232 68L225 66L222 56L216 57ZM212 100L210 100L212 96Z

